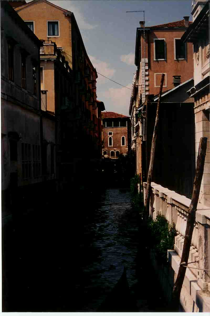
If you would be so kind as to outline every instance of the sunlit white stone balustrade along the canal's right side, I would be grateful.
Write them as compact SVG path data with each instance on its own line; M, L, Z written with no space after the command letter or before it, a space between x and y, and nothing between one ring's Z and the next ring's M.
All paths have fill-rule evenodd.
M143 187L145 196L146 183L143 184ZM175 237L174 250L168 251L168 259L175 274L177 274L184 245L188 210L191 200L154 182L151 183L151 188L150 216L155 219L157 214L160 213L166 217L171 225L174 223L176 227L177 236ZM195 305L197 291L210 291L210 271L207 271L210 270L209 206L202 204L198 204L197 206L196 222L194 224L188 263L190 264L186 270L184 284ZM206 306L204 308L206 311L210 311L210 297L208 297L208 299L209 305L203 303L203 306Z

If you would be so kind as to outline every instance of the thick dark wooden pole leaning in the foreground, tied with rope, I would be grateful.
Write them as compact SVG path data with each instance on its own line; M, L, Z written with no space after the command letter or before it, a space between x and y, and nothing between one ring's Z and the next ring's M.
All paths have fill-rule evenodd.
M207 148L207 137L202 137L200 139L200 144L199 144L199 149L198 149L196 174L195 174L195 179L193 183L192 200L191 200L190 207L188 210L189 215L187 218L187 227L186 227L185 237L184 237L182 258L181 258L181 263L179 266L176 282L173 286L173 292L172 292L172 311L173 312L179 311L180 293L181 293L182 284L183 284L184 276L186 272L186 266L184 267L183 264L184 265L187 264L189 253L190 253L190 245L191 245L192 233L194 229L194 222L196 219L198 197L199 197L200 188L201 188L201 180L203 177L206 148Z

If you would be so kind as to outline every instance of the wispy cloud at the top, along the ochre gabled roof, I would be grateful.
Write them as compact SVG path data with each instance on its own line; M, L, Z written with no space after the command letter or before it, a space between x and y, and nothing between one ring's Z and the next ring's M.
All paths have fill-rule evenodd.
M92 30L95 27L97 27L97 25L92 25L88 22L85 21L85 16L83 15L83 13L80 11L80 9L74 5L74 2L71 0L52 0L49 1L63 9L69 10L71 12L74 13L74 16L76 18L78 27L82 30ZM77 3L79 3L79 1L77 1Z

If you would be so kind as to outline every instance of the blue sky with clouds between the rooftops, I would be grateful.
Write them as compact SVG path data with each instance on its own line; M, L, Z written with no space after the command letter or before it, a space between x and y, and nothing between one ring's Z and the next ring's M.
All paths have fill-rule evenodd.
M26 1L30 2L30 1ZM98 74L97 100L105 111L129 115L134 72L136 28L180 21L190 16L192 0L52 0L74 13L88 56L97 72L127 87L124 88ZM130 88L130 89L128 89Z

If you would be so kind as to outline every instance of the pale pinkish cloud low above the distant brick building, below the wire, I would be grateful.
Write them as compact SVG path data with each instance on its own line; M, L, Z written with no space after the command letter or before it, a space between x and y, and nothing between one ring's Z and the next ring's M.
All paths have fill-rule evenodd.
M132 88L132 83L129 83L127 88ZM111 106L106 106L106 101L103 97L108 101L107 104L111 104ZM116 112L123 115L129 115L129 106L130 106L130 98L131 98L131 90L126 88L110 88L105 92L100 94L100 100L104 101L106 111Z

